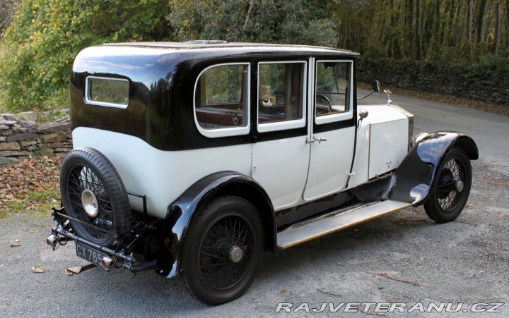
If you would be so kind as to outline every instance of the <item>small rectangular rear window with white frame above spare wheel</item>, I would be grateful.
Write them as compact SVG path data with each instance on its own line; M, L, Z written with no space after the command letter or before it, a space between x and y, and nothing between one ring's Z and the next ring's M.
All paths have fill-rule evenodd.
M85 101L88 104L126 108L129 104L129 80L88 76Z

